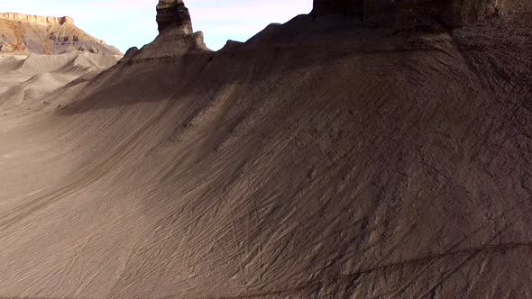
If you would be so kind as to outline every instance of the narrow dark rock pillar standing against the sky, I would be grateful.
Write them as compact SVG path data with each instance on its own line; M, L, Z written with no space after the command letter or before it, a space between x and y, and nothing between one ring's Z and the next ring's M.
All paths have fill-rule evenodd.
M160 0L157 5L157 23L160 33L172 26L184 34L193 32L188 8L182 0Z

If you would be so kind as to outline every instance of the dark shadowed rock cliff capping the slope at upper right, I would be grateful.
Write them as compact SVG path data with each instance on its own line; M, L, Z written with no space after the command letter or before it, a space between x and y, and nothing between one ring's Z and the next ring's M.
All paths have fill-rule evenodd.
M312 14L350 14L399 25L431 17L454 28L493 14L530 11L531 6L527 0L314 0Z

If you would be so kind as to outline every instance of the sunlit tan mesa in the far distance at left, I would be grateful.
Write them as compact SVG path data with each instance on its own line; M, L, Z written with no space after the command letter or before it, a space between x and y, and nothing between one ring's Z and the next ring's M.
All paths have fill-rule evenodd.
M64 54L72 51L121 54L120 50L76 27L68 16L0 14L0 54Z

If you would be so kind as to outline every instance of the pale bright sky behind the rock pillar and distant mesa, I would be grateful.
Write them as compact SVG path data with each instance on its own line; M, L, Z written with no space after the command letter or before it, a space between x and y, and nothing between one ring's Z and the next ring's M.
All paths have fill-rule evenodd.
M0 0L0 13L68 15L85 32L125 52L157 36L158 0ZM185 0L194 31L207 47L247 41L270 23L286 23L312 10L312 0Z

